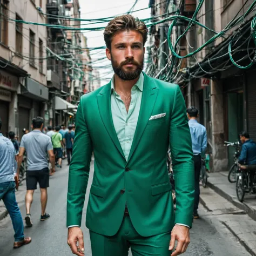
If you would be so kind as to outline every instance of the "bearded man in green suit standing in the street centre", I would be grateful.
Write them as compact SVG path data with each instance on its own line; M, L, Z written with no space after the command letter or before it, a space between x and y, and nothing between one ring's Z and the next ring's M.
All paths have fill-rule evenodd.
M194 204L184 98L178 85L142 72L147 28L139 19L114 18L104 39L114 76L84 95L78 106L69 170L68 244L74 254L83 255L80 226L93 151L95 172L86 214L92 255L127 256L129 247L133 256L179 255L190 242ZM166 167L169 146L175 213Z

